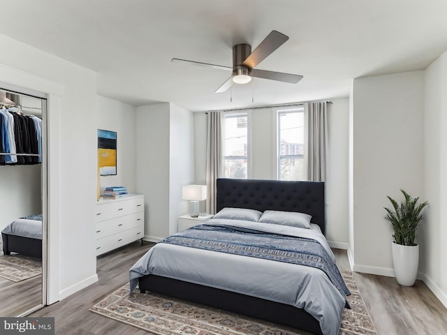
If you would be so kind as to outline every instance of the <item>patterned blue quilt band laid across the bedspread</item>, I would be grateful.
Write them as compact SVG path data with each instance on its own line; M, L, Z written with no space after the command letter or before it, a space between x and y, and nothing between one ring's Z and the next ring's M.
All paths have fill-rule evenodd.
M314 267L325 272L343 297L351 294L335 262L314 239L204 224L166 237L159 243Z

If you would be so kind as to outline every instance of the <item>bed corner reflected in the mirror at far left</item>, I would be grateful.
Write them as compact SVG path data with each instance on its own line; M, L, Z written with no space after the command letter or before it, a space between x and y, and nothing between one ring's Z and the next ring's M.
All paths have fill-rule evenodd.
M8 224L1 231L3 255L20 253L42 258L42 215L25 216Z

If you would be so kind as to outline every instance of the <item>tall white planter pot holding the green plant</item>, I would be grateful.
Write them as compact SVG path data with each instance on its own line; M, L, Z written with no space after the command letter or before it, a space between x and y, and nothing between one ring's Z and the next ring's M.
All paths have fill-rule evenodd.
M418 274L419 246L402 246L393 242L391 251L397 283L413 286Z

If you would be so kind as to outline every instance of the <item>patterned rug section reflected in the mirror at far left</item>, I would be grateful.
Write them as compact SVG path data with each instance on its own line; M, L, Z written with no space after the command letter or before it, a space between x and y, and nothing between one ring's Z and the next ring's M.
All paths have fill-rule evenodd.
M0 255L0 276L10 281L24 281L42 274L42 262L22 255Z

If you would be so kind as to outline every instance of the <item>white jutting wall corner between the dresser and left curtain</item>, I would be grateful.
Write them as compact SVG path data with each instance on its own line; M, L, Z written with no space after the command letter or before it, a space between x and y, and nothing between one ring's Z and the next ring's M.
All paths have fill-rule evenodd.
M145 239L177 231L193 182L193 114L170 103L137 107L137 192L145 195Z

